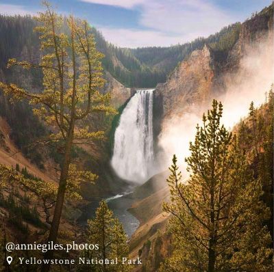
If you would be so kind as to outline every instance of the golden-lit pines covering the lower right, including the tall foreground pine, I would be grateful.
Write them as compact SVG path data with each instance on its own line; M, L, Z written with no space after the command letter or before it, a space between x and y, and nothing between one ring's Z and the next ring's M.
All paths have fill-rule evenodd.
M271 271L273 269L273 90L268 102L240 122L221 124L216 100L197 126L182 174L173 157L167 179L174 250L160 271ZM160 264L159 264L160 266Z

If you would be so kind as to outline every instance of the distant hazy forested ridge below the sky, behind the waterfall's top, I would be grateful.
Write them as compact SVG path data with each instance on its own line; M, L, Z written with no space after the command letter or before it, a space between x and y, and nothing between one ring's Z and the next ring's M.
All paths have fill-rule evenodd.
M240 23L224 27L208 38L197 38L192 42L173 46L143 47L138 49L121 49L110 46L115 57L123 64L110 64L109 71L123 84L129 87L155 87L164 83L179 62L192 51L202 49L205 44L212 50L227 53L238 40Z

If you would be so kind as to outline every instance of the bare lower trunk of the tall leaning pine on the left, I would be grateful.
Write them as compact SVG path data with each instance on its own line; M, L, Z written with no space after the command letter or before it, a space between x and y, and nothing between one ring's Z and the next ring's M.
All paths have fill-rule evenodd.
M74 122L73 122L73 128L71 128L69 131L69 136L67 138L68 140L66 141L66 149L65 149L65 153L64 153L64 163L63 163L62 169L61 169L56 204L55 204L55 209L54 209L54 213L53 213L51 229L49 231L48 242L52 242L53 245L55 245L57 236L58 236L60 219L61 219L61 215L62 215L62 208L63 208L63 204L64 204L64 195L66 193L66 180L68 179L68 176L69 176L69 165L71 164L71 148L73 146L73 131L74 131ZM53 258L53 250L48 250L45 253L44 260L52 260L52 258ZM43 263L41 271L49 272L50 267L51 267L50 261L48 264Z

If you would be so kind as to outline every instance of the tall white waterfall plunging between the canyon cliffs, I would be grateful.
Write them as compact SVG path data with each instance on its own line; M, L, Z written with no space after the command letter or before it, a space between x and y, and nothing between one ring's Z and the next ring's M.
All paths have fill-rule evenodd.
M138 90L121 114L112 167L125 180L144 182L153 171L153 90Z

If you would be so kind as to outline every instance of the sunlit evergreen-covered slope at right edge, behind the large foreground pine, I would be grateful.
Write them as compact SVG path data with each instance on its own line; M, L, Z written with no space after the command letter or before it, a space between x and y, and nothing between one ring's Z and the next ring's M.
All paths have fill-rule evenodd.
M273 85L268 100L259 109L251 102L249 118L240 123L240 147L247 153L253 177L260 180L264 194L262 200L271 210L267 226L273 239Z

